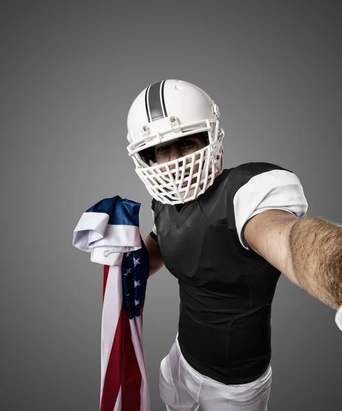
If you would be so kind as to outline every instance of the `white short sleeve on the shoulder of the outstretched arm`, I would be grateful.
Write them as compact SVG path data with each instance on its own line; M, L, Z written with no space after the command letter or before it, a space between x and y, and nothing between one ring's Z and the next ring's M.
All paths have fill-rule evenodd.
M300 179L284 169L254 175L236 191L233 203L236 232L248 250L243 230L253 216L265 210L284 210L302 217L308 210Z

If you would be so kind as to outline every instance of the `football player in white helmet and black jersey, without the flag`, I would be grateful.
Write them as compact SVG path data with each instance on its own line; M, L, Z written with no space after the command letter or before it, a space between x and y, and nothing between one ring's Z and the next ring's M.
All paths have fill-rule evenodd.
M341 226L306 216L289 169L223 169L219 108L193 84L145 88L127 129L153 197L149 275L166 266L180 288L178 334L160 364L162 401L169 411L267 410L280 273L337 310L341 327Z

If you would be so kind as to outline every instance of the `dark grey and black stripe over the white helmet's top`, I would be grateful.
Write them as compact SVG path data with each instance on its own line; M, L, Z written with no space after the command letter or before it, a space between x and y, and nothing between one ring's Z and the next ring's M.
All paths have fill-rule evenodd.
M165 81L166 80L151 84L146 90L145 106L149 123L167 117L167 109L164 101Z

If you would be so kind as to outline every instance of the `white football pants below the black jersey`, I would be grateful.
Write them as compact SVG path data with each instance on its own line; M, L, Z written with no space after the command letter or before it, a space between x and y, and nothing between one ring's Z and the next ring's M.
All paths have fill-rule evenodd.
M160 363L160 397L167 411L267 411L272 369L247 384L226 385L186 362L178 334Z

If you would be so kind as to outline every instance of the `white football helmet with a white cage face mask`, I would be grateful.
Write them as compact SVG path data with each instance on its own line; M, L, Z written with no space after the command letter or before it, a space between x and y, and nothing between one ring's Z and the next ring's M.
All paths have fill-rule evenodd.
M219 108L206 92L181 80L156 82L136 97L127 116L127 150L154 199L185 203L212 185L223 169L224 132L218 119ZM156 162L154 146L204 132L208 145L203 149L163 164ZM195 164L199 164L197 173Z

